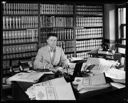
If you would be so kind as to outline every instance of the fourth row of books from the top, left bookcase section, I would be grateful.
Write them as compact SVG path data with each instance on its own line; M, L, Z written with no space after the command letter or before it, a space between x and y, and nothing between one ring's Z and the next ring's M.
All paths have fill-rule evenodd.
M8 45L3 47L3 54L36 51L37 44Z

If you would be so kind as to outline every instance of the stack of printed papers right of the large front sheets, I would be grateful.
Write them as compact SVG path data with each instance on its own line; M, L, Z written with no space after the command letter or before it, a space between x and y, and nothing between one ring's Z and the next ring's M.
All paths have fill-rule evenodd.
M103 73L89 77L76 77L73 84L78 84L77 90L79 93L99 90L110 86L106 83Z

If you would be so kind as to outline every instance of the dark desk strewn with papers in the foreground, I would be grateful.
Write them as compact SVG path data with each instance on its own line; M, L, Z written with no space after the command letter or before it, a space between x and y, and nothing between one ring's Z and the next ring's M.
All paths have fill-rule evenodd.
M50 76L50 75L49 75ZM53 76L53 75L52 75ZM45 75L44 80L46 80L48 75ZM49 77L52 78L52 77ZM54 78L54 76L53 76ZM43 81L43 80L42 80ZM15 97L15 100L18 101L29 101L30 99L28 98L27 94L25 91L33 85L33 83L27 83L27 82L13 82L12 84L12 90L13 90L13 96ZM107 100L111 101L111 99L114 99L114 101L118 100L121 101L122 98L124 97L124 89L118 90L117 88L114 87L108 87L102 90L95 90L95 91L89 91L87 93L80 94L76 91L74 85L71 83L71 86L73 88L74 95L76 97L76 100L84 100L84 101L101 101L101 100ZM117 93L117 92L119 93ZM113 94L112 96L110 94ZM118 97L119 96L119 97ZM118 97L118 98L113 98L113 97ZM118 102L117 101L117 102Z

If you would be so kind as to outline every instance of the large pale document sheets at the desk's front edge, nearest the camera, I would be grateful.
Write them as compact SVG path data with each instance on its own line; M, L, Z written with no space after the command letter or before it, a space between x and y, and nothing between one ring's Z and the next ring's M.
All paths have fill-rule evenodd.
M71 84L64 77L34 84L26 94L32 100L75 100Z

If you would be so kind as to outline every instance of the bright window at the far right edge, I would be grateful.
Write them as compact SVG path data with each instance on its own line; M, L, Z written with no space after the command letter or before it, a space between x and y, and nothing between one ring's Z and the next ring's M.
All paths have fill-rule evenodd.
M118 52L125 54L126 49L126 6L120 5L117 7L117 44Z

